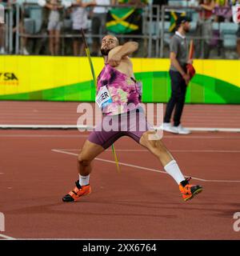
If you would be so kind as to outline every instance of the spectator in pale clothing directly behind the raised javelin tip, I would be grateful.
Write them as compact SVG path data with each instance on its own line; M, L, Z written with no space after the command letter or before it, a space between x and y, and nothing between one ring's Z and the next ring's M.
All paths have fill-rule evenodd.
M75 0L72 4L72 29L74 35L81 35L81 29L87 32L87 9L88 6L94 6L95 1L92 0ZM81 37L74 37L74 56L82 56L84 54L84 44Z

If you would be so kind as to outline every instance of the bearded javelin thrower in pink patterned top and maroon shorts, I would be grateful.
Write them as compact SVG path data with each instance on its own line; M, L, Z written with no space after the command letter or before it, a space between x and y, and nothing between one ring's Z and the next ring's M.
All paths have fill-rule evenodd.
M177 182L185 201L202 191L202 186L190 185L190 178L183 176L178 163L158 138L154 127L146 121L138 82L134 78L133 64L128 57L136 50L137 42L126 42L119 46L118 38L112 35L102 38L101 53L105 66L98 75L96 101L102 109L103 119L86 139L78 155L79 179L75 182L74 189L62 198L63 202L74 202L90 194L92 161L122 136L133 138L158 158L166 173ZM106 97L102 97L102 94ZM133 116L136 122L130 122ZM109 121L114 128L110 131L104 127L104 123ZM156 139L152 139L155 135ZM124 186L126 184L123 184L123 188Z

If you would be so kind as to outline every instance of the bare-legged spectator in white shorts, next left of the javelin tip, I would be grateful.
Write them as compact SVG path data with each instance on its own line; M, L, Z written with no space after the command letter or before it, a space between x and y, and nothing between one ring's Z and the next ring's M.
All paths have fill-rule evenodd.
M50 10L47 30L49 31L49 50L51 55L58 55L60 46L60 30L62 26L62 8L60 0L46 1L46 8Z

